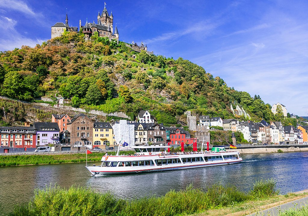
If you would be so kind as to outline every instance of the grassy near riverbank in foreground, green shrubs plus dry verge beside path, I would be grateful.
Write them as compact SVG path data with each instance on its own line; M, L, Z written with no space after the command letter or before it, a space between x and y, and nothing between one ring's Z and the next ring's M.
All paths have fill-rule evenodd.
M92 189L59 186L36 190L29 204L16 206L10 215L247 215L270 205L298 199L306 194L278 195L274 180L257 181L252 190L241 192L234 186L210 186L206 192L193 188L170 190L161 197L118 199L112 193ZM266 206L266 207L265 207Z

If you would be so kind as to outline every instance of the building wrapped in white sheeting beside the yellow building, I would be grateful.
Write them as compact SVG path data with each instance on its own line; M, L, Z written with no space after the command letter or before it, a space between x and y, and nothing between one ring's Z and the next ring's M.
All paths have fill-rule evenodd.
M117 121L112 125L114 140L116 145L124 142L128 143L127 147L135 145L135 125L127 120Z

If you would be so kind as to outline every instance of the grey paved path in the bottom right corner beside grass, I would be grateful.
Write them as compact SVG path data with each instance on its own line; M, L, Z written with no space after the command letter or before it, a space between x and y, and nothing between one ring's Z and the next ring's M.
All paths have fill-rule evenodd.
M305 192L307 193L308 189L298 191L298 192L296 192L296 194L305 193ZM285 210L290 209L290 208L299 209L302 206L308 206L308 197L304 197L304 198L301 198L301 199L298 199L298 200L294 200L294 201L288 202L286 204L282 204L280 206L275 206L275 207L272 207L270 209L266 209L266 210L263 210L263 211L258 211L256 213L249 214L249 216L278 216L280 211L285 211Z

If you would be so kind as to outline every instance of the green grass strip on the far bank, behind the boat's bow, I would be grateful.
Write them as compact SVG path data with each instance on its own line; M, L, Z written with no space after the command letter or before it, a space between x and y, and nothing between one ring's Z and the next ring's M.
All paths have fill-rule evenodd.
M133 154L133 152L122 152L120 154ZM115 155L115 152L108 152ZM105 153L88 154L87 161L100 161ZM51 155L5 155L0 156L0 167L19 166L19 165L38 165L38 164L61 164L85 162L86 153L76 154L51 154Z

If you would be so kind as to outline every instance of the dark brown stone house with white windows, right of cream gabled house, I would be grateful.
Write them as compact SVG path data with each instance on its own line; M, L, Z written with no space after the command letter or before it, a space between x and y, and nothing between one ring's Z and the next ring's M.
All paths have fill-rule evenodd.
M153 144L166 144L166 128L163 124L147 124L147 128L149 142L152 142Z

